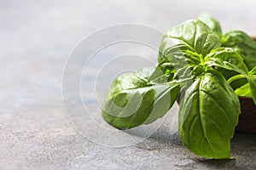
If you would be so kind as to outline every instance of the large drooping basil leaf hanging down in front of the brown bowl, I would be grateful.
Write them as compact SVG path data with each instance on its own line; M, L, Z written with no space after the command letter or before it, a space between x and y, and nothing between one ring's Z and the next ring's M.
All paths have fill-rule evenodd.
M230 139L241 112L239 99L224 77L209 70L186 90L179 109L179 133L193 153L230 158Z

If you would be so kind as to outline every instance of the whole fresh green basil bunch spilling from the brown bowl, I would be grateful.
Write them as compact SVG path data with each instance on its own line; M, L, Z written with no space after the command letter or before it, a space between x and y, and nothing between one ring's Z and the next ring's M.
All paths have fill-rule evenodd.
M167 31L158 62L112 83L103 118L119 129L149 124L180 97L183 144L202 157L229 159L241 113L238 96L256 104L256 42L242 31L223 34L217 20L202 14Z

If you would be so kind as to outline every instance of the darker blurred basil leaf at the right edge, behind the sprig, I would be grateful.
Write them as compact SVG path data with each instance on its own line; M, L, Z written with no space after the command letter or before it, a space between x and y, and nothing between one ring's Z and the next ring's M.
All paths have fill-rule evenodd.
M252 70L256 65L256 42L243 31L229 31L221 39L223 47L234 48Z

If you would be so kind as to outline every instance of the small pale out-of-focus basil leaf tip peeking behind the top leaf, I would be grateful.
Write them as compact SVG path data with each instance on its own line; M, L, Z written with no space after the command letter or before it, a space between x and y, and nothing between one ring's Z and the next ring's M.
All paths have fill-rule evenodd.
M212 29L212 31L214 31L215 33L218 34L219 37L221 37L222 31L221 31L221 27L218 23L218 20L215 20L209 14L200 14L197 17L197 19L203 21L207 26L209 26Z

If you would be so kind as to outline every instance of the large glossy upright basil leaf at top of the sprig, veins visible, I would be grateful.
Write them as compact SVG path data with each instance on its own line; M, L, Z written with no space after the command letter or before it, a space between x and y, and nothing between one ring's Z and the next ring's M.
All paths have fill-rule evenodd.
M187 52L195 57L209 54L214 48L220 47L218 35L201 20L189 20L170 29L160 43L159 62L169 54ZM191 55L189 55L191 57Z

